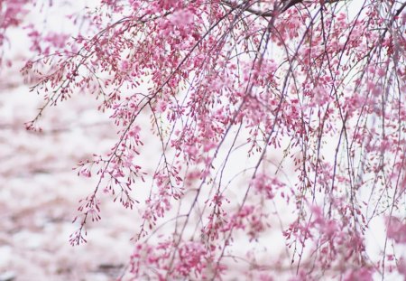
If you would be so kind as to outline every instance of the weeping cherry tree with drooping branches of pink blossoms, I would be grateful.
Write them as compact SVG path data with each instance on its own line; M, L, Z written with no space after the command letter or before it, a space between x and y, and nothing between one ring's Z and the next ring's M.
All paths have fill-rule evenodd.
M70 243L111 197L140 213L119 279L406 277L405 6L103 0L77 34L32 27L22 72L45 102L27 128L78 92L117 128L78 164L98 181Z

